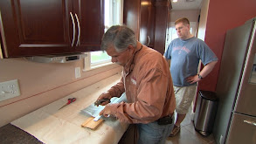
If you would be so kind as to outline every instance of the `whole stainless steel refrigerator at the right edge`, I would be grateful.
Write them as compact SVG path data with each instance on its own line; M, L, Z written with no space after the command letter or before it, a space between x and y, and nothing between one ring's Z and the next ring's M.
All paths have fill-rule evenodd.
M218 144L256 144L256 17L227 31L216 93Z

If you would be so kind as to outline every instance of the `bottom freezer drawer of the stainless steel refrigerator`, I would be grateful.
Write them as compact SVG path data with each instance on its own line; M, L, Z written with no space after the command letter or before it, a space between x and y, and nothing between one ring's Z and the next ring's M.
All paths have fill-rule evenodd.
M226 144L256 144L256 117L233 113Z

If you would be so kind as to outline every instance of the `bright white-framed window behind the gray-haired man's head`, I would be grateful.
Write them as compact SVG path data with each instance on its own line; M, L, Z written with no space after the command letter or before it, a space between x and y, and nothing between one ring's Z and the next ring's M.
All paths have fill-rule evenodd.
M123 0L105 0L105 31L112 25L122 24ZM84 70L90 70L101 65L111 64L111 57L106 51L87 52Z

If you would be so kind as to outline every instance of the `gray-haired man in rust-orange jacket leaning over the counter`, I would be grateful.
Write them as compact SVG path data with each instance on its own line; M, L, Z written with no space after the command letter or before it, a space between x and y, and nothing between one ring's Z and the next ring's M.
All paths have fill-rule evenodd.
M163 55L135 38L127 26L114 25L102 38L101 50L107 51L112 62L123 66L121 80L100 99L120 97L126 93L128 102L101 105L103 116L113 115L121 122L134 124L138 143L164 144L173 127L175 97L169 65Z

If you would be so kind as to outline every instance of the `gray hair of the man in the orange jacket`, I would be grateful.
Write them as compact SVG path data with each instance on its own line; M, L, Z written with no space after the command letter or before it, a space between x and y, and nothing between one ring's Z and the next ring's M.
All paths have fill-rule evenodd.
M137 45L135 32L125 25L111 26L103 35L101 50L106 51L112 45L117 52L125 51L128 45L135 47Z

